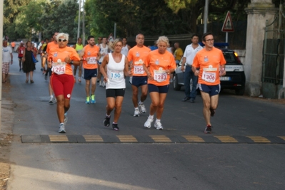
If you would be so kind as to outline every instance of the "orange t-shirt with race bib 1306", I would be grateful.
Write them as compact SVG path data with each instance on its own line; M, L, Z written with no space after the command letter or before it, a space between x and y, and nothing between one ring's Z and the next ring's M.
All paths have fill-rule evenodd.
M213 47L211 51L206 51L206 49L203 48L196 53L192 66L200 68L198 83L204 85L219 85L219 68L220 65L224 64L226 64L226 60L218 48Z

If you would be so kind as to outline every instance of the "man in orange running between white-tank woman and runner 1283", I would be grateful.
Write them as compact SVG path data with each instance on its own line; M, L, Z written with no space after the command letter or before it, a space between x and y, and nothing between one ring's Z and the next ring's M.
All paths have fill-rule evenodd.
M134 116L145 113L144 100L147 97L147 74L144 72L144 59L151 50L144 46L144 35L136 35L136 46L131 48L128 53L129 65L131 66L131 88L133 91ZM138 102L139 87L141 87L141 98ZM139 109L140 108L140 109Z

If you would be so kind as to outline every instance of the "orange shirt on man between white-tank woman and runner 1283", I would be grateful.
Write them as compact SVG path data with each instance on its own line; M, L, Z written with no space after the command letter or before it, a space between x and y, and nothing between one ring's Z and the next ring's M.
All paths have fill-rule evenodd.
M146 72L144 72L143 64L146 56L151 51L150 48L143 46L139 48L138 46L134 46L129 50L128 60L129 62L133 61L133 68L131 69L131 73L133 76L146 76Z

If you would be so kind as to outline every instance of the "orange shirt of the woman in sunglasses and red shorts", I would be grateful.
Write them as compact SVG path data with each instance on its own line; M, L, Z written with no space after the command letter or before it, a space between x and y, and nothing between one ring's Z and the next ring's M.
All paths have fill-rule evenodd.
M54 63L58 62L58 60L64 62L64 59L68 56L71 58L71 60L80 60L78 53L75 51L75 49L67 46L65 48L51 48L49 50L48 60L52 59ZM64 73L62 74L73 75L71 64L66 63L65 68L63 70Z

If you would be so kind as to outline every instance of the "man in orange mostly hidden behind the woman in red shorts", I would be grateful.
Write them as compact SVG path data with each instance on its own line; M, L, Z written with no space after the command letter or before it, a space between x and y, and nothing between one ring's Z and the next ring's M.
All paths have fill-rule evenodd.
M53 38L56 39L56 36L58 35L59 33L58 32L55 32L54 33L54 36ZM52 49L52 48L58 48L59 47L59 44L57 43L56 40L54 41L51 41L50 43L48 43L46 45L46 58L48 58L49 56L49 51ZM49 61L49 60L48 60ZM51 76L51 68L47 68L46 69L46 74L44 75L44 79L47 80L47 75L49 73L49 76ZM49 83L49 96L50 96L50 99L49 99L49 104L54 104L56 102L56 98L54 97L54 91L52 90L51 88L51 83Z

